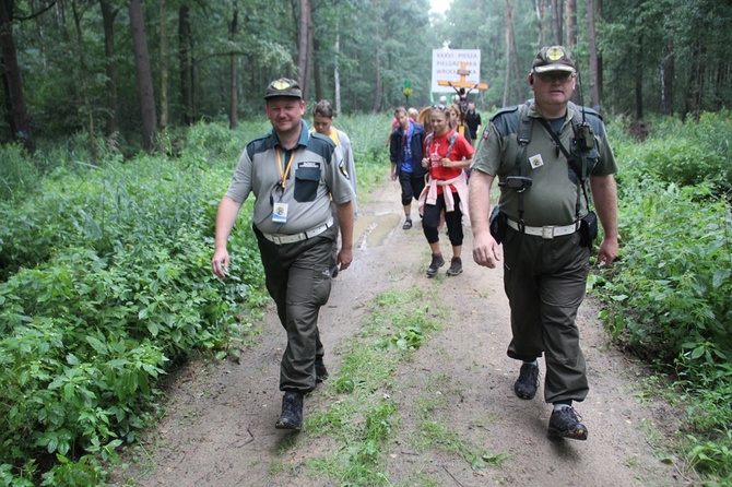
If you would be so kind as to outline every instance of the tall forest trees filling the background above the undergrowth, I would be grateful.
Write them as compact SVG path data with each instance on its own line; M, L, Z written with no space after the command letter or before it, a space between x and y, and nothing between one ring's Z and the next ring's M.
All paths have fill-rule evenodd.
M481 50L484 111L528 97L536 50L564 44L583 104L697 116L730 105L731 24L713 0L2 0L0 142L84 131L152 149L168 128L260 114L281 75L339 114L426 106L442 47Z

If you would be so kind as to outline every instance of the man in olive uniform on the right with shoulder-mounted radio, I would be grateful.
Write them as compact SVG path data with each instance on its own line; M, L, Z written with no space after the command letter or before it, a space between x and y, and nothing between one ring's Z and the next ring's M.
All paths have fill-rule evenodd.
M543 354L544 399L554 405L550 435L585 440L588 430L572 402L589 391L575 323L597 233L587 181L604 230L598 262L610 265L618 247L617 165L600 116L569 102L576 79L563 46L539 51L529 73L534 99L499 110L483 131L470 178L470 216L477 264L495 268L503 240L508 356L523 363L516 394L533 399ZM499 213L489 218L496 176Z

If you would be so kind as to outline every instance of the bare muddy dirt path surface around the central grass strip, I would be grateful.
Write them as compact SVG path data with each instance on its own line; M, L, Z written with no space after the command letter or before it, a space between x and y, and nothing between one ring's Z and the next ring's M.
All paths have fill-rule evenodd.
M509 341L508 304L500 270L472 262L472 238L467 229L465 271L446 277L442 268L427 280L428 248L422 227L401 229L399 189L385 182L361 202L359 247L350 270L335 280L330 304L323 308L320 330L326 349L333 351L354 336L365 304L387 289L420 286L440 293L450 310L442 330L402 363L394 378L400 428L413 427L415 401L424 394L447 394L451 426L461 438L486 451L506 453L500 466L473 471L458 455L440 450L411 451L400 441L385 447L386 472L392 485L410 472L422 472L445 486L681 486L674 465L654 456L649 430L663 427L663 405L641 404L634 395L640 369L614 347L587 300L578 323L588 364L591 391L577 405L588 425L588 441L550 441L546 425L551 407L543 390L533 401L513 395L518 365L506 356ZM447 238L442 248L449 249ZM449 258L450 252L446 252ZM147 435L144 453L126 472L121 485L134 479L141 486L328 486L328 479L298 474L297 466L332 448L333 440L315 439L297 448L283 448L290 433L274 429L280 413L279 364L284 334L270 312L259 344L244 352L240 365L193 364L181 371L170 390L167 416ZM339 356L326 361L331 376ZM543 361L540 361L542 371ZM440 376L440 390L435 391ZM447 377L447 383L445 383ZM323 406L320 388L306 399L308 409ZM669 416L669 415L666 415ZM645 428L642 424L652 424ZM661 425L661 426L659 426ZM304 448L305 447L305 448ZM282 463L293 468L275 468ZM131 484L127 484L131 485ZM409 484L415 485L415 484Z

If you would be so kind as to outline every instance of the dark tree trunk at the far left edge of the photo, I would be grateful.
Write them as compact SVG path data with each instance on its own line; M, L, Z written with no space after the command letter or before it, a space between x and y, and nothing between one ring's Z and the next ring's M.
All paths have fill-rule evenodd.
M23 97L23 83L21 82L21 69L17 66L12 22L13 1L0 0L0 55L2 57L0 66L10 115L10 131L14 141L22 143L29 153L34 153L36 147L31 134L31 122Z

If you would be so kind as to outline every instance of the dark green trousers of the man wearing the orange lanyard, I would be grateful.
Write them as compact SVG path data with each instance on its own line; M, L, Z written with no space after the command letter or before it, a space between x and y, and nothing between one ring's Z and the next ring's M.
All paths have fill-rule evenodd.
M267 290L287 332L280 390L307 393L316 387L315 360L324 354L318 330L320 307L331 288L330 258L337 229L295 243L275 245L255 227Z

